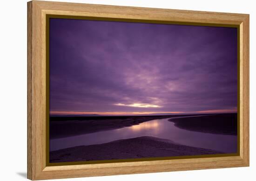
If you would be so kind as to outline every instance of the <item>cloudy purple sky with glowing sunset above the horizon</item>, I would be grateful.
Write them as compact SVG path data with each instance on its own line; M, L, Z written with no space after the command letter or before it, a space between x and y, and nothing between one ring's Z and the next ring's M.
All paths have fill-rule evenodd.
M232 112L236 28L50 19L50 112Z

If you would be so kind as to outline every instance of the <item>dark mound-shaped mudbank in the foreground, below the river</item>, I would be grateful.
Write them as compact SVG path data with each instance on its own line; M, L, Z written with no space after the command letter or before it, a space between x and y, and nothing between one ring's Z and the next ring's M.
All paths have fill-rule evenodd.
M216 150L175 144L158 137L135 137L106 144L76 146L50 152L50 162L132 159L164 156L221 154Z

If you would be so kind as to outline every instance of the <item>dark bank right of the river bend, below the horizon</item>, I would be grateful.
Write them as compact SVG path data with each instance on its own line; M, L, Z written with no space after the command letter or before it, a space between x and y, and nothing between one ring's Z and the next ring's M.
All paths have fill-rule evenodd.
M175 126L204 133L237 135L237 113L168 119Z

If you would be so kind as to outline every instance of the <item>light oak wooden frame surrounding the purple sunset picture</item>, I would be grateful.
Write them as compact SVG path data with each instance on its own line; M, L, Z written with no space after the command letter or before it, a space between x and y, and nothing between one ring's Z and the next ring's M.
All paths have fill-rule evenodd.
M47 166L46 15L237 25L240 155L159 161ZM27 178L31 180L249 166L249 15L33 0L27 3Z

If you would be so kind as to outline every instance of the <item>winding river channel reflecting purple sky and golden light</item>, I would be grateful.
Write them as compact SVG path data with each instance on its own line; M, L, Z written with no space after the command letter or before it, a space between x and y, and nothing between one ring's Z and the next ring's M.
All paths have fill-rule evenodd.
M59 150L80 145L102 144L131 137L154 136L169 139L178 144L236 153L237 136L218 135L182 130L168 119L155 119L140 125L116 130L100 131L74 137L50 140L50 150Z

